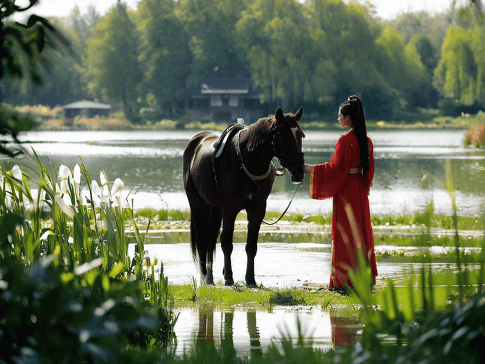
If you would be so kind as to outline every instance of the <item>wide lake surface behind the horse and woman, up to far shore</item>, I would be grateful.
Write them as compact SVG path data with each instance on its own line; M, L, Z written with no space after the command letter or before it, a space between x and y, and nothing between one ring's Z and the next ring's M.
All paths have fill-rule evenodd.
M328 162L342 131L306 131L303 152L307 164ZM485 198L485 150L463 148L465 130L410 130L369 132L376 158L376 177L369 196L371 214L421 211L433 198L437 212L451 213L448 193L434 182L421 181L423 174L445 179L445 161L450 159L457 186L460 214L479 214ZM103 168L109 180L125 182L135 209L188 209L182 183L182 153L196 131L42 131L27 132L19 139L24 148L34 148L46 164L73 168L85 162L91 179L98 180ZM30 152L31 154L31 152ZM10 161L33 165L28 159ZM7 162L3 161L3 166ZM277 162L276 162L277 164ZM6 166L8 167L8 166ZM430 186L429 186L430 185ZM326 214L331 199L310 200L308 179L303 180L290 213ZM287 173L278 177L268 200L268 209L283 211L290 202L294 185Z

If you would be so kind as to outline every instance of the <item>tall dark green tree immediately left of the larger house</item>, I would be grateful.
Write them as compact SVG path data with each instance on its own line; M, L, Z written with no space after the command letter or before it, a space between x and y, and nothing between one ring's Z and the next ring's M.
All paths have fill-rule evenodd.
M137 10L141 39L140 63L147 92L158 109L172 114L175 95L185 87L191 52L175 0L143 0Z

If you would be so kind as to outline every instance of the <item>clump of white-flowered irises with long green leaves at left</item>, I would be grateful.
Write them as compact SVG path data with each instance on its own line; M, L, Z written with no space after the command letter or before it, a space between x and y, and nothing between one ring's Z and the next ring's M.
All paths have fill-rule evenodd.
M111 297L108 291L112 281L112 289L123 292L123 297L148 297L155 308L153 331L132 327L129 336L133 343L152 346L172 340L177 316L169 308L168 281L163 275L163 266L158 280L155 279L158 261L148 264L143 259L144 244L132 209L127 205L123 207L123 182L116 179L110 184L101 170L99 185L89 177L82 159L72 173L62 165L53 176L42 165L35 151L34 155L39 169L32 169L33 176L23 173L19 166L0 174L0 239L3 239L0 242L0 266L9 262L32 266L49 257L44 268L52 266L58 274L64 272L60 275L60 283L68 284L80 276L82 287L92 286L88 290L89 295L96 293L103 300ZM87 187L84 191L81 189L81 176ZM37 196L30 190L29 180L37 184ZM51 214L48 222L43 219L45 205ZM132 236L127 234L127 225L131 225ZM130 242L135 245L132 257L128 256ZM87 271L91 272L85 277ZM89 285L82 283L82 279L88 279ZM67 288L69 290L72 291L72 287ZM55 291L53 294L58 293ZM69 294L78 293L74 290ZM85 294L84 291L82 294ZM69 300L64 302L64 299L66 297L60 297L60 304L69 304ZM103 304L103 301L97 303ZM93 310L96 311L96 307Z

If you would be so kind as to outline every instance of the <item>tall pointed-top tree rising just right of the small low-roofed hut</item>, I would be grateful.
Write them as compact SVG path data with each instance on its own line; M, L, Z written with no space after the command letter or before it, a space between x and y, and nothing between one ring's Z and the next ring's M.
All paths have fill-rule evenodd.
M136 120L141 81L134 22L121 0L91 30L87 40L89 92L121 102L127 119Z

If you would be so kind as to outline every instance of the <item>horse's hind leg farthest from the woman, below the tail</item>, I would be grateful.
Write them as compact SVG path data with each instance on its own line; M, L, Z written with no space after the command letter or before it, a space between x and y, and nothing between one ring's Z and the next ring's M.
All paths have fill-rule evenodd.
M200 265L200 281L206 284L214 284L212 272L209 272L206 267L207 250L209 247L209 218L210 208L202 198L195 198L191 196L189 199L191 207L191 246L195 257L195 249L199 256Z

